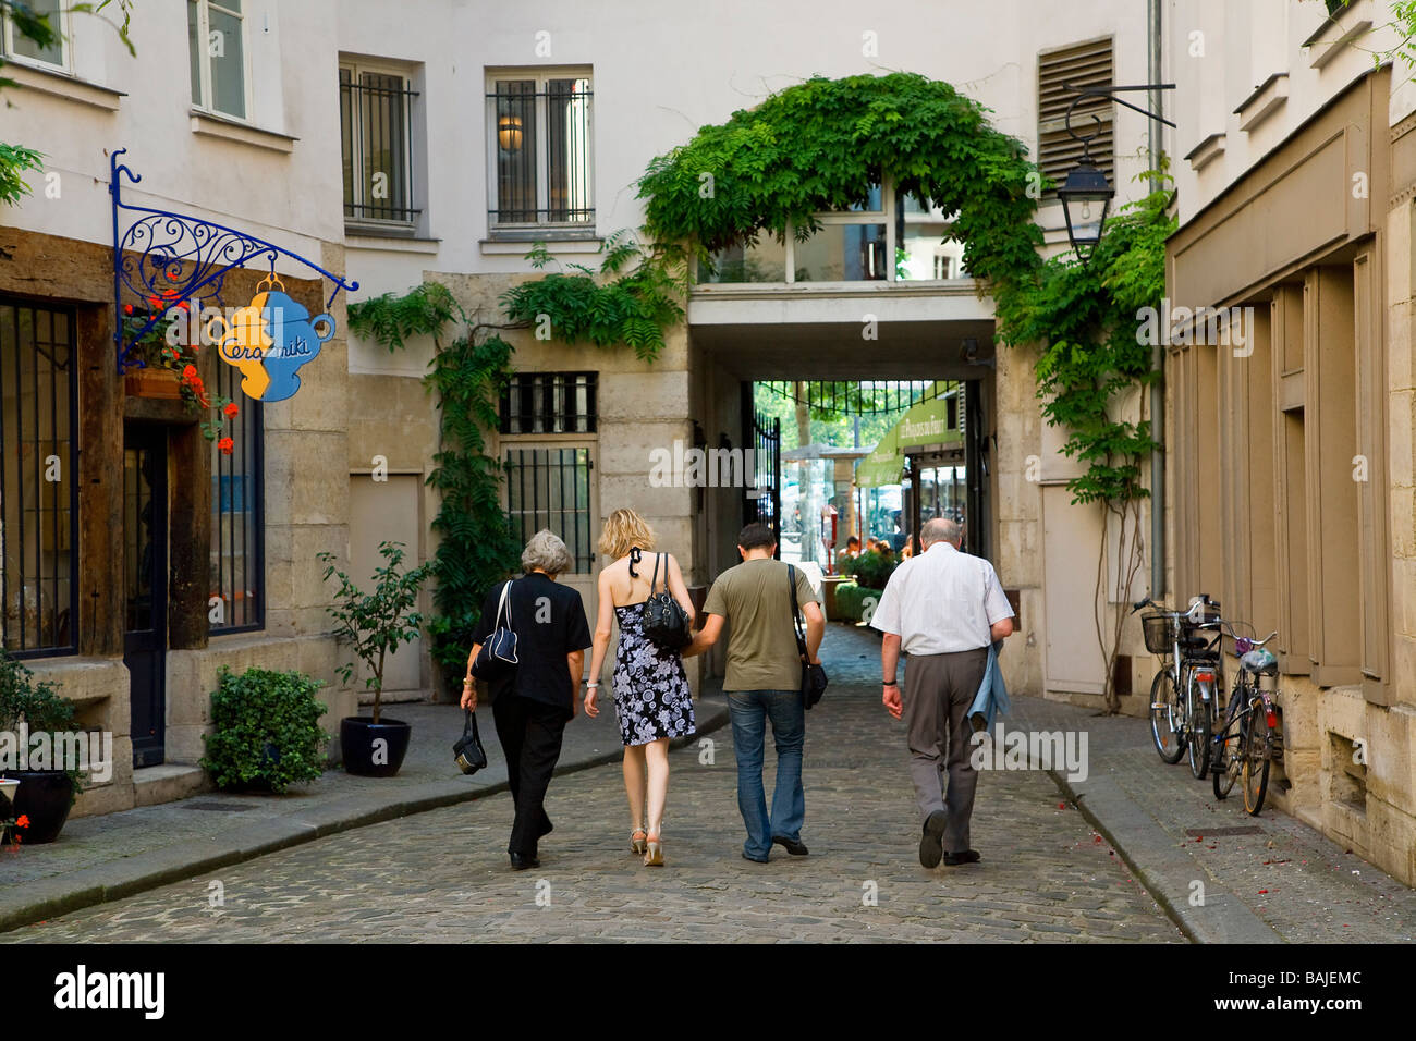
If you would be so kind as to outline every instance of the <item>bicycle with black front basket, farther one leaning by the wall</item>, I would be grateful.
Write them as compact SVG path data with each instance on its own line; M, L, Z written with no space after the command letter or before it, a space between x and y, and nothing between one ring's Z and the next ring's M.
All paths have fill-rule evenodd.
M1151 741L1167 763L1180 762L1188 752L1189 772L1204 780L1222 659L1216 650L1221 636L1211 642L1195 632L1219 626L1219 603L1201 593L1189 610L1168 610L1147 596L1136 602L1131 613L1141 608L1157 610L1141 616L1146 649L1171 659L1151 680ZM1222 684L1222 678L1218 681Z

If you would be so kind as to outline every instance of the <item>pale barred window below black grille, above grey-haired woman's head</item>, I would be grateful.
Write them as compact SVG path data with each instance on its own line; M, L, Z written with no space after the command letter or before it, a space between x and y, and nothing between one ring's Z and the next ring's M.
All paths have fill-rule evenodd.
M507 513L523 544L541 528L558 534L575 558L575 572L595 565L590 541L590 449L507 449Z

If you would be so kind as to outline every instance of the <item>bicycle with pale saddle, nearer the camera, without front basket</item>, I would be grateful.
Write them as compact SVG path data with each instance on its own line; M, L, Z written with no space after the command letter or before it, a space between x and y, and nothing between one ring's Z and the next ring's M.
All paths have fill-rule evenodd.
M1250 817L1263 809L1269 792L1269 768L1283 746L1273 695L1260 677L1277 676L1279 661L1264 650L1264 644L1279 633L1262 640L1240 636L1229 626L1239 656L1239 674L1229 695L1223 727L1214 738L1215 765L1212 785L1216 799L1228 797L1235 780L1243 779L1243 807Z

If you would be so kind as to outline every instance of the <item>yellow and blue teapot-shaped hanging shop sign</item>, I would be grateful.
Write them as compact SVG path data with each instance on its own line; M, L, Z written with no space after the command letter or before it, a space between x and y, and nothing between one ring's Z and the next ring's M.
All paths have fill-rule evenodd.
M246 307L231 320L207 323L217 353L241 372L241 391L256 401L285 401L300 389L300 367L314 361L320 346L334 336L334 319L310 312L290 299L273 273L261 279Z

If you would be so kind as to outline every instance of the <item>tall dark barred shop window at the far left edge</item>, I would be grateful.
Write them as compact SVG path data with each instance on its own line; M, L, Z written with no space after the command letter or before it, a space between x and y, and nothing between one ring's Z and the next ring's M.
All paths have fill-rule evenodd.
M75 316L0 297L0 644L78 650Z

